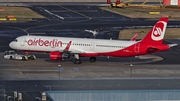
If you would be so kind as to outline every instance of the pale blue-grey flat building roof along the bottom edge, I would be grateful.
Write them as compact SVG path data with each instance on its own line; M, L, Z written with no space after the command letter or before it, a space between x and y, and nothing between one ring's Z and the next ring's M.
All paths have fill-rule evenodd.
M47 92L52 101L178 101L179 90L85 90Z

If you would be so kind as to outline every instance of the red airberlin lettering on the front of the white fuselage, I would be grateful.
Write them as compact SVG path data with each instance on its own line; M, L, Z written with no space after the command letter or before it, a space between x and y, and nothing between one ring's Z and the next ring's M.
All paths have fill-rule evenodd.
M58 39L52 39L52 40L43 40L41 38L39 39L29 39L27 41L27 44L29 46L45 46L45 47L62 47L62 42Z

